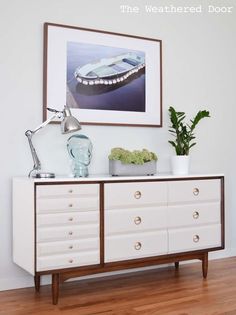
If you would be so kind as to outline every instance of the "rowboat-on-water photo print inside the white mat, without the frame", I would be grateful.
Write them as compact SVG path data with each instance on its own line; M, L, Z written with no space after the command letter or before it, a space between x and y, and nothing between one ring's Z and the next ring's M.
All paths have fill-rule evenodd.
M67 103L71 108L145 112L145 52L67 42Z

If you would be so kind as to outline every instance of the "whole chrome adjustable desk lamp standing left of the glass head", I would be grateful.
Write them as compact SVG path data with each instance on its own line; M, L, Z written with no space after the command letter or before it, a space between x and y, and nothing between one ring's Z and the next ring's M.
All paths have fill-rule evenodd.
M34 162L33 169L29 172L28 177L36 177L36 178L53 178L55 177L54 173L46 173L41 172L41 162L38 158L38 155L36 153L36 150L32 143L33 135L35 135L40 129L47 126L51 121L53 121L56 118L62 118L61 121L61 133L66 134L74 131L78 131L81 129L80 123L78 120L72 116L71 111L67 105L65 105L63 111L58 111L56 109L47 108L48 111L53 112L54 114L48 118L46 121L44 121L40 126L35 128L34 130L27 130L25 132L25 135L29 141L29 146Z

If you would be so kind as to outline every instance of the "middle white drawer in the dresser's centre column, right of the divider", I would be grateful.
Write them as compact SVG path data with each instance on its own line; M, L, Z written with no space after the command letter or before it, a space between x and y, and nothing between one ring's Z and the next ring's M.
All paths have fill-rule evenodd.
M152 231L167 227L166 207L105 211L105 235Z

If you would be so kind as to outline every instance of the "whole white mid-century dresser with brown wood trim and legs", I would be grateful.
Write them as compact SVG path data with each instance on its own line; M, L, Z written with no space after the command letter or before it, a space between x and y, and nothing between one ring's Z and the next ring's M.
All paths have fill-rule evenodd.
M13 180L13 259L59 283L81 275L200 259L224 248L224 177Z

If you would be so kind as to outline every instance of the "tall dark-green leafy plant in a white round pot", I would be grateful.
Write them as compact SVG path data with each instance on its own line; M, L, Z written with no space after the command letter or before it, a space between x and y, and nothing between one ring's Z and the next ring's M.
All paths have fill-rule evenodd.
M185 123L185 112L177 112L174 107L169 107L171 126L169 132L174 140L169 143L174 147L176 156L172 157L172 172L176 175L188 174L189 171L189 151L196 145L195 128L203 118L210 117L207 110L200 110L196 116Z

